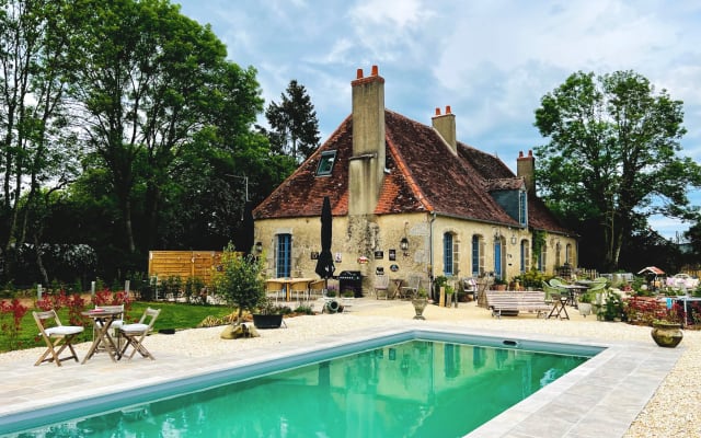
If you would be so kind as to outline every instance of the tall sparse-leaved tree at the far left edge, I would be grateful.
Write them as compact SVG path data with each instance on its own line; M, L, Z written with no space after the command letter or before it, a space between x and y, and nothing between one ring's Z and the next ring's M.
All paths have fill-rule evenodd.
M62 186L74 175L79 151L66 129L66 35L72 27L65 20L68 7L65 1L0 0L0 216L5 254L13 245L38 241L46 211L39 188Z

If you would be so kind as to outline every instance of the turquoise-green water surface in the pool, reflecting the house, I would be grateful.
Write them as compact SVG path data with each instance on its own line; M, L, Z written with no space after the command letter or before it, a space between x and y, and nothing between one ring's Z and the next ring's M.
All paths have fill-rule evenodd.
M149 403L74 413L16 436L459 437L598 353L435 337L344 351L234 383L222 377L180 395L159 391Z

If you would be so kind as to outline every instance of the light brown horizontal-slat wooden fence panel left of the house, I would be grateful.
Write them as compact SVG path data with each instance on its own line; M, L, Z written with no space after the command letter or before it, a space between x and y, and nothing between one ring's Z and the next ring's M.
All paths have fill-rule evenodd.
M149 251L149 277L159 280L196 277L209 286L212 272L220 264L220 251Z

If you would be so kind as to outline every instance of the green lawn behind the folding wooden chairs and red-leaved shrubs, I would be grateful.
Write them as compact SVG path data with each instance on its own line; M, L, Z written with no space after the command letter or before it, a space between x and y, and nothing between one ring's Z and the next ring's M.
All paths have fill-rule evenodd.
M135 301L131 303L131 308L127 312L127 322L137 322L139 318L141 318L141 314L147 307L161 309L161 313L159 314L158 320L156 320L156 331L159 331L161 328L194 328L209 315L221 318L232 312L232 309L230 307L225 306L194 306L174 302ZM60 309L58 311L58 315L61 320L61 323L68 325L68 309ZM3 315L3 322L11 322L11 320L9 320L11 318L11 315ZM84 326L85 331L81 335L79 342L92 341L92 322L90 321L90 319L85 318ZM15 342L16 345L13 349L44 346L44 341L38 338L37 334L38 328L36 327L36 323L34 322L34 318L32 316L32 310L30 310L22 318L21 330ZM10 349L10 338L8 332L5 330L2 330L0 331L0 353L9 351Z

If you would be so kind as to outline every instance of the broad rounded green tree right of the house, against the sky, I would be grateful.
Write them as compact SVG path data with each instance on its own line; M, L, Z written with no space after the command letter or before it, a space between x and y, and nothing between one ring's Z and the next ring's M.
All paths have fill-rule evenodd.
M598 223L602 268L618 266L625 239L650 216L693 217L687 191L701 171L678 155L682 122L682 102L632 71L576 72L536 110L550 139L536 149L540 195L565 219Z

